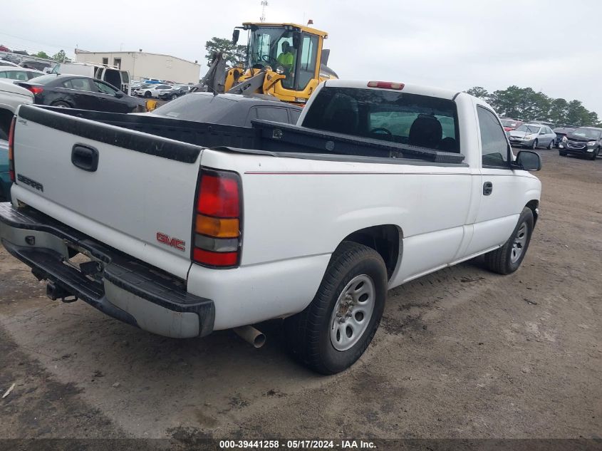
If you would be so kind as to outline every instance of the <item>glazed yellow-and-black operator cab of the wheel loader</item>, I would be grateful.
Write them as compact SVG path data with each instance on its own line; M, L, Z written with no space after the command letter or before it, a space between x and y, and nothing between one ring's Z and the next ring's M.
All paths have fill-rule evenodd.
M286 77L276 86L276 96L306 101L322 81L321 55L327 34L295 24L247 23L242 28L249 31L246 70L271 68Z

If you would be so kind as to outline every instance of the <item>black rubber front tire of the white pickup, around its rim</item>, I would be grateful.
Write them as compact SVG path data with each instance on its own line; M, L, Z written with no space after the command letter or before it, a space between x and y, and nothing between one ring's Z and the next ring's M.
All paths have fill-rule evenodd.
M517 259L514 254L514 241L519 239L519 231L523 224L526 224L526 241L521 245L521 252ZM510 238L504 244L504 246L496 249L492 252L485 254L485 266L490 271L497 272L499 274L511 274L521 266L521 262L524 259L527 249L529 249L529 242L531 242L531 234L533 233L533 212L529 207L524 207L523 211L519 216L517 227L514 227L514 231Z

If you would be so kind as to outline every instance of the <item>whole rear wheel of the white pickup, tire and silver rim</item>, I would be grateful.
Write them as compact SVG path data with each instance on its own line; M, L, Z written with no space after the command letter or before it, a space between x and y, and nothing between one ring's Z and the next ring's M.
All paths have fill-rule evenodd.
M318 373L346 370L372 341L386 294L387 269L380 254L343 242L311 304L284 322L289 351Z

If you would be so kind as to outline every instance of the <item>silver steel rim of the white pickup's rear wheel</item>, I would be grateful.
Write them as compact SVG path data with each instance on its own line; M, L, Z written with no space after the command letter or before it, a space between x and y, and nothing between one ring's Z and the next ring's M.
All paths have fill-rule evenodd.
M355 276L345 286L331 315L331 343L337 351L347 351L368 329L376 301L376 288L370 276Z

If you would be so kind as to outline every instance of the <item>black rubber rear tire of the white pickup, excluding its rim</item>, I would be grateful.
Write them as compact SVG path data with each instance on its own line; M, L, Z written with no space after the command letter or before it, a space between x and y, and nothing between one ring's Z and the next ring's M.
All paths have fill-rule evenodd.
M337 322L345 323L347 319L338 320L335 316L340 311L335 310L335 307L341 307L341 304L338 304L339 298L347 300L342 296L343 290L348 289L348 284L363 276L368 276L373 283L373 310L367 326L357 338L352 338L352 341L356 340L353 346L338 351L331 339L331 331ZM363 282L355 289L358 289L361 284ZM353 289L353 285L350 289ZM359 296L359 299L362 296ZM380 318L383 316L386 296L387 269L380 254L370 247L355 242L341 243L328 263L326 274L311 304L284 321L289 351L294 358L318 373L328 375L346 370L360 358L372 341ZM358 305L358 301L353 304L354 301L351 309L347 310L345 307L347 313L353 311L353 308ZM358 315L358 313L348 314ZM364 316L362 315L361 318ZM336 331L333 333L336 334Z

